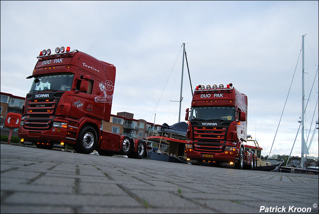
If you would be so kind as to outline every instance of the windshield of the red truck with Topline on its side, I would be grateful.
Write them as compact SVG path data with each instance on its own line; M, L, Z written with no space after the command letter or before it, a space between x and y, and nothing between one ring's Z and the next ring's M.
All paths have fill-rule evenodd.
M70 91L74 74L62 73L35 77L30 91Z

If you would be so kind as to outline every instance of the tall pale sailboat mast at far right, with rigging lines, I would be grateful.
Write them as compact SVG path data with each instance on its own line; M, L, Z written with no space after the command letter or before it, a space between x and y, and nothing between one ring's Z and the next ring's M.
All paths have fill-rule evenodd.
M305 142L305 44L304 44L304 40L305 40L305 35L302 35L303 37L303 41L302 41L302 47L303 47L303 51L302 51L302 60L303 60L303 65L302 65L302 69L303 69L303 75L302 75L302 118L301 118L301 126L302 126L302 130L301 130L301 165L300 167L303 169L304 168L304 147L306 145Z

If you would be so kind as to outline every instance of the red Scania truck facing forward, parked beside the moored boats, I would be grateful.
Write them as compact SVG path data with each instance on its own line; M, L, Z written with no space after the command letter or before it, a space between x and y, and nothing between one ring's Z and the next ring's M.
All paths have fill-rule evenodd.
M189 116L190 112L190 116ZM256 168L256 155L245 149L247 96L232 83L199 85L194 90L188 120L185 153L189 163Z

